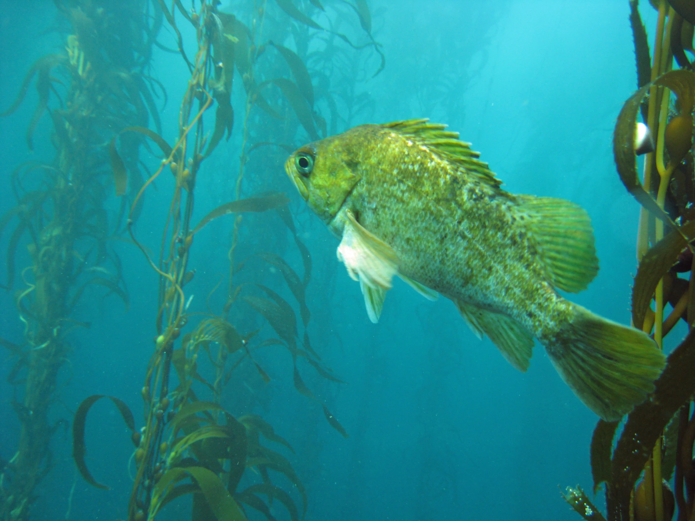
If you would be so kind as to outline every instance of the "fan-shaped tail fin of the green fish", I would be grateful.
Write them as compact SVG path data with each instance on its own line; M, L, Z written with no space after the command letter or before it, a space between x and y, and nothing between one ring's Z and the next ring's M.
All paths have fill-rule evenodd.
M575 318L546 343L550 360L582 402L619 420L654 390L666 358L654 340L575 305Z

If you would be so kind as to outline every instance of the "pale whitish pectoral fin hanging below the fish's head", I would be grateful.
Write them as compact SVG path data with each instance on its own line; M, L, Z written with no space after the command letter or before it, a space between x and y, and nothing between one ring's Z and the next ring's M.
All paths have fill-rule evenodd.
M398 273L395 251L367 231L348 211L343 240L338 245L338 260L345 264L352 279L360 282L369 318L377 322L386 290L391 289L391 280Z

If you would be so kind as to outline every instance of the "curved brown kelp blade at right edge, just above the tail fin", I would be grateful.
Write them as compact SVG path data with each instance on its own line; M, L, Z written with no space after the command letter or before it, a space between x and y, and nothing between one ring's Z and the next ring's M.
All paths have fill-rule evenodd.
M642 329L657 284L687 246L684 235L687 238L695 237L695 221L687 222L681 226L680 231L673 230L668 233L649 249L639 262L635 286L632 288L632 324L637 329Z

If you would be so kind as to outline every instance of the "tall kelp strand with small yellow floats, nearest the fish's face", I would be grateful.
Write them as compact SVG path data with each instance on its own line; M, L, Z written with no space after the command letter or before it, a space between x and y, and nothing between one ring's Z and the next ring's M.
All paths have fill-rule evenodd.
M277 4L298 25L350 42L345 35L324 29L313 22L293 3L278 0ZM314 10L323 10L318 1L313 1L312 4ZM366 45L377 49L383 66L383 55L378 44L371 38L366 22L369 14L366 3L347 5L358 13L360 24L368 35L369 42ZM277 36L286 39L279 31L281 26L277 24L275 27L277 36L274 36L274 43L263 42L263 28L268 24L269 11L265 2L254 3L250 26L240 22L234 15L220 11L216 1L196 2L193 10L183 8L179 0L174 0L171 6L159 1L158 7L176 35L179 53L188 66L190 79L181 101L179 129L173 144L159 133L142 126L128 127L120 133L121 140L133 133L145 136L161 153L156 172L141 187L137 186L126 225L131 240L140 247L159 277L154 353L147 366L145 384L142 387L142 399L145 402L144 426L136 429L133 414L126 403L117 397L108 397L133 431L133 461L137 470L128 506L128 518L131 521L154 519L169 502L182 495L193 494L194 520L244 520L245 508L253 508L268 520L273 520L269 505L274 501L283 504L291 519L297 520L306 512L304 486L288 459L267 444L273 443L275 447L283 445L288 450L292 450L292 447L260 416L234 416L222 406L221 401L224 386L231 379L240 378L238 369L243 363L251 364L263 381L269 381L270 377L256 361L254 352L267 347L284 346L292 356L295 388L302 395L318 400L327 422L343 436L347 436L338 420L306 386L300 374L299 361L303 360L320 377L340 381L323 367L320 357L309 342L306 326L311 314L306 306L305 294L311 280L311 256L295 231L286 207L288 199L279 193L239 198L243 191L244 167L251 151L269 144L282 147L280 143L293 140L297 131L295 121L312 137L325 135L325 119L313 106L311 76L304 60L299 53L278 43L280 38ZM297 38L297 34L301 34L302 30L295 27L295 22L289 27L285 26L284 31L293 31L297 47L300 47L303 43ZM178 23L191 24L195 29L195 56L186 54ZM270 53L269 47L277 51L275 61L262 63L260 58L263 53ZM263 67L266 70L277 69L278 60L290 69L294 79L272 77L261 80ZM192 216L201 165L222 139L229 139L234 123L231 89L235 68L243 80L246 94L243 149L236 182L236 199L211 210L195 224ZM277 90L266 92L265 87L270 85L275 85ZM329 96L327 90L324 96ZM215 106L215 117L211 119L208 111L211 113ZM258 127L254 130L253 125L260 113L284 121L283 131L278 136L252 142L255 135L261 135L261 130ZM291 113L296 119L290 117ZM210 121L213 124L208 128ZM273 141L272 138L279 140ZM117 136L112 138L108 150L115 190L117 195L123 195L133 182L133 175L122 160L122 149L119 150L117 140ZM141 244L134 222L142 195L160 176L172 180L174 193L165 216L162 247L158 258L152 258L149 249ZM257 185L263 185L262 180L254 181ZM243 238L240 216L243 213L269 210L277 212L280 221L290 230L302 258L302 276L281 256L267 251L236 263L238 245ZM195 236L208 222L227 214L235 214L236 220L229 250L229 283L224 304L219 314L210 311L193 313L189 309L191 300L186 293L186 284L195 275L195 270L189 269ZM300 335L293 306L275 290L259 282L236 283L245 266L259 261L271 265L283 277L288 290L297 301L303 335ZM261 340L259 331L247 328L252 324L243 323L240 310L250 310L255 317L263 317L278 338ZM193 325L193 319L200 315L203 315L202 320L191 327L188 333L183 333L187 326ZM240 320L237 321L237 318ZM204 361L211 365L215 375L213 380L205 379L199 372L199 364ZM202 399L202 393L208 399ZM88 470L84 434L90 407L103 397L93 395L85 399L76 411L73 424L73 455L77 468L88 483L99 488L106 486L92 477ZM252 474L247 472L250 469L254 471ZM292 483L300 496L301 508L297 507L291 495L293 491L288 492L275 485L273 473L284 475Z

